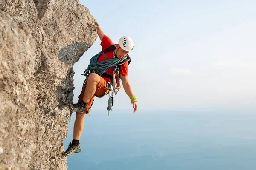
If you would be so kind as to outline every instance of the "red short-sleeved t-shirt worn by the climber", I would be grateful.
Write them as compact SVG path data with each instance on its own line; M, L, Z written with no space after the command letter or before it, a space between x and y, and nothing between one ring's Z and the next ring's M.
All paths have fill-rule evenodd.
M107 49L108 47L113 45L113 42L111 41L111 39L108 36L104 35L100 45L102 46L102 51L104 51L105 49ZM113 52L114 51L105 53L106 58L113 59ZM105 61L105 60L106 60L105 57L103 55L101 55L98 59L98 62ZM108 69L105 73L113 76L113 68ZM122 64L120 66L119 74L121 74L122 76L128 76L128 62L125 62L124 64ZM102 77L102 78L105 79L106 82L111 82L111 80L109 78L106 78L106 77Z

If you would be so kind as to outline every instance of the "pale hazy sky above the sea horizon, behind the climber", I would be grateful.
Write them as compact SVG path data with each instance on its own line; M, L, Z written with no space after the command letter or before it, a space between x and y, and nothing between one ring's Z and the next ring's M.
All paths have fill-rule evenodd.
M114 43L134 40L129 82L138 110L256 111L255 0L79 0ZM74 102L96 42L74 65ZM92 111L105 110L108 96ZM112 109L133 111L123 88Z

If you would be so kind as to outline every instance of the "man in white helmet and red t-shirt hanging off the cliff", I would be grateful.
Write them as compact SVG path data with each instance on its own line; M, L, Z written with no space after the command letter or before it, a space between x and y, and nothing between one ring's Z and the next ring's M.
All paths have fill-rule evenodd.
M115 91L115 93L116 91L119 91L119 77L122 80L122 85L126 94L131 100L134 109L133 112L135 113L137 111L137 98L134 96L128 80L128 61L130 61L128 53L133 50L133 40L130 37L121 37L118 44L115 45L111 39L104 34L99 26L97 26L97 34L102 41L100 44L102 46L102 52L96 62L102 63L100 66L104 65L103 61L106 60L112 61L115 59L122 62L116 64L115 67L111 65L105 73L100 74L101 76L96 74L96 71L94 73L94 70L88 74L81 94L78 97L78 103L69 105L70 110L76 112L76 120L72 143L69 144L69 147L65 152L61 153L62 156L71 156L74 153L81 152L82 149L79 146L79 139L84 128L84 117L89 113L94 96L102 97L111 93L111 91ZM111 46L114 46L114 49L111 50ZM111 85L113 87L112 90L110 89Z

